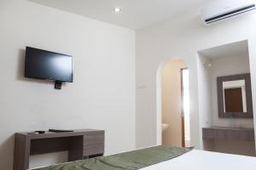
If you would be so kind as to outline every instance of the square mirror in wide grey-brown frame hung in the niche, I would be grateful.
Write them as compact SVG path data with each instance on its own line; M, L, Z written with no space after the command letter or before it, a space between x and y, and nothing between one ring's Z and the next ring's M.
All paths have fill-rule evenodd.
M250 74L217 77L218 116L253 117Z

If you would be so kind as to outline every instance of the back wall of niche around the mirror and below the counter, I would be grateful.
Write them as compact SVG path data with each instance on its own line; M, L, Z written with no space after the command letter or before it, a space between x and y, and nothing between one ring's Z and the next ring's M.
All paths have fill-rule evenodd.
M217 77L230 76L250 72L247 54L212 59L212 125L218 127L252 127L253 118L219 118ZM223 153L255 156L254 142L215 140L213 150Z

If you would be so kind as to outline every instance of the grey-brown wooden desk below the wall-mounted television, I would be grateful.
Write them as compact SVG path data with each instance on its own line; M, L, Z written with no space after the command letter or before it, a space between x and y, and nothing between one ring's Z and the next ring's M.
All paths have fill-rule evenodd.
M68 150L68 161L103 156L103 130L74 130L67 133L15 133L14 170L26 170L29 156Z

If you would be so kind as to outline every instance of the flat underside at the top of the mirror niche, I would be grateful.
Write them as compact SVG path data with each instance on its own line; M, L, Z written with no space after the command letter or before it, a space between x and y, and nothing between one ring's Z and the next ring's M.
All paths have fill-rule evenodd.
M241 42L233 42L215 48L207 48L199 51L199 54L207 57L208 59L232 56L248 56L248 53L247 40Z

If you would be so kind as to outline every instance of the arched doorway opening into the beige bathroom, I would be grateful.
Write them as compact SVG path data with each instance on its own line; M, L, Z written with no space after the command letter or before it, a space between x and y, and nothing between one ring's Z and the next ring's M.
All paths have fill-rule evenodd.
M161 112L162 144L189 147L189 69L183 59L161 69Z

